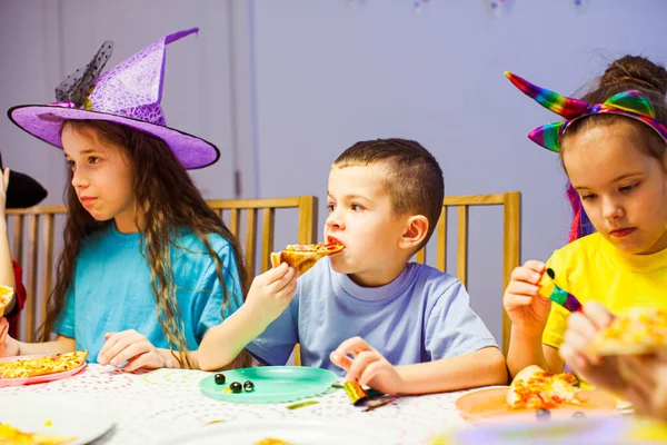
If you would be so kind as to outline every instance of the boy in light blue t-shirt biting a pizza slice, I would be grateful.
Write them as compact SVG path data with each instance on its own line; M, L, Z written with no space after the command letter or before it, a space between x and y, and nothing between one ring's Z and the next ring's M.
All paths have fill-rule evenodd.
M253 286L288 289L280 298L289 306L247 349L263 364L285 365L298 343L303 365L345 369L348 379L388 394L507 383L505 358L464 285L410 263L434 233L444 189L438 162L416 141L347 149L329 172L325 225L325 241L345 248L319 259L296 291L297 274L286 265L256 278ZM215 329L199 350L200 365L211 369L225 365L207 359Z

